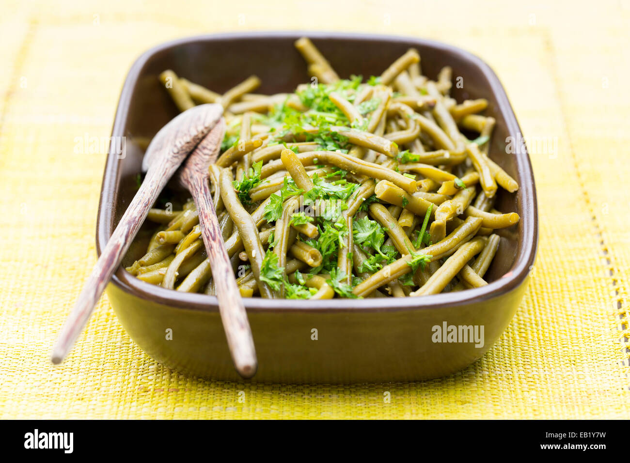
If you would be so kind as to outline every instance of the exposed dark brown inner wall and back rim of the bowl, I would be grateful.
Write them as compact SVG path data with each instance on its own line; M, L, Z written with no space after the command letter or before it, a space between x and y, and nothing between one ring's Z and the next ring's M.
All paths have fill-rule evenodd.
M420 52L423 74L435 78L444 66L451 66L453 78L462 77L463 86L453 86L451 94L461 102L469 98L486 98L489 102L485 111L496 119L496 128L491 139L490 157L518 180L520 185L529 183L516 194L499 189L496 209L502 212L518 212L522 220L518 226L500 231L501 243L486 278L493 282L503 277L517 261L533 260L536 249L535 232L524 234L524 222L536 219L535 195L527 153L506 154L505 140L515 136L518 125L513 116L505 93L496 76L473 55L448 45L410 38L328 36L306 34L331 62L341 77L360 74L365 79L379 75L392 61L415 47ZM164 69L173 69L178 76L186 77L217 92L224 92L243 81L251 74L261 78L262 86L256 93L273 94L293 91L298 84L309 82L304 59L295 50L293 42L300 34L277 33L275 35L231 35L203 37L173 42L147 52L134 65L123 89L113 135L127 137L127 156L110 159L106 171L104 192L101 197L100 241L111 234L113 226L125 211L137 190L137 174L144 154L144 146L157 130L178 114L157 76ZM519 157L520 156L520 157ZM112 157L112 154L110 154ZM109 175L109 177L108 177ZM524 193L529 191L529 193ZM523 200L525 194L531 198ZM104 204L105 203L105 204ZM532 204L534 210L524 205ZM103 210L113 205L113 216ZM531 228L531 224L525 224ZM144 253L142 236L127 253L123 265ZM533 243L525 243L524 239ZM105 241L103 241L104 243ZM98 245L98 248L101 244ZM131 279L132 277L129 276Z

